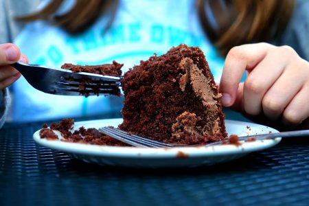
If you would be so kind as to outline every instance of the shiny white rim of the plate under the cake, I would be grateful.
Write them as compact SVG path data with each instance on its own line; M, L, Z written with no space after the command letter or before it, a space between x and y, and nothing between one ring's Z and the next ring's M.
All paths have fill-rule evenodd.
M89 121L75 122L75 126L84 125L84 124L96 124L100 122L108 121L119 121L122 118L113 118L113 119L95 119ZM264 126L261 124L255 124L251 122L241 122L237 120L225 119L225 123L233 124L247 124L252 126L263 126L271 130L274 128ZM192 147L176 147L176 148L135 148L135 147L125 147L125 146L98 146L91 144L80 144L65 142L60 140L47 140L41 139L39 137L39 132L41 129L36 130L33 135L34 141L41 146L53 150L59 150L61 152L69 154L78 154L78 155L87 155L95 157L121 157L121 158L137 158L137 159L166 159L166 158L175 158L181 155L179 152L182 152L185 155L188 155L188 158L198 158L198 157L214 157L214 156L223 156L223 155L240 155L247 154L249 152L255 152L258 150L264 150L271 148L276 144L279 144L281 137L276 139L265 139L263 141L247 141L244 142L241 146L235 145L216 145L216 146L192 146ZM230 135L230 134L229 134ZM180 155L180 156L179 156Z

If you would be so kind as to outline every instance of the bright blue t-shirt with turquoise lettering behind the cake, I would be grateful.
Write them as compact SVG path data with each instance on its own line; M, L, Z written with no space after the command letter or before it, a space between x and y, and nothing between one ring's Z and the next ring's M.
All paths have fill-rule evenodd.
M102 16L87 31L70 36L58 27L36 21L25 27L16 45L30 63L60 67L64 63L100 65L116 60L123 73L154 53L164 54L185 43L201 47L215 80L220 80L224 60L209 43L191 0L120 1L111 28L104 32L108 18ZM24 78L13 86L12 120L82 117L120 111L118 97L61 96L37 91Z

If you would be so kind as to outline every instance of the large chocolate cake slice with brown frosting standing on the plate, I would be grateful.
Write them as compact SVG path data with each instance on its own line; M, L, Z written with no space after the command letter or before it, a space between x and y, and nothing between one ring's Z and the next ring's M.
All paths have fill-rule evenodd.
M176 144L227 137L221 95L198 47L179 45L125 73L124 122L119 128Z

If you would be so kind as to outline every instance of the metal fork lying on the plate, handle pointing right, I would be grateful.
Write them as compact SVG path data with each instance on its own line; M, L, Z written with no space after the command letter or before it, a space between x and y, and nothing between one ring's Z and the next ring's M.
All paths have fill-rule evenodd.
M136 146L136 147L173 148L173 147L179 147L179 146L189 146L189 145L183 145L183 144L166 144L161 141L155 141L155 140L148 139L145 137L140 137L138 135L130 135L123 130L119 130L118 128L113 128L111 126L104 126L102 128L99 128L99 130L102 133L110 137L113 137L119 141L122 141L126 144L129 144L131 146ZM238 137L238 140L247 141L253 138L255 140L264 140L264 139L275 139L276 137L302 137L302 136L309 136L309 130L297 130L297 131L288 131L288 132L282 132L282 133L266 133L266 134L260 134L260 135L248 135L248 136ZM227 141L228 139L224 141L216 141L210 144L206 144L205 146L219 145Z

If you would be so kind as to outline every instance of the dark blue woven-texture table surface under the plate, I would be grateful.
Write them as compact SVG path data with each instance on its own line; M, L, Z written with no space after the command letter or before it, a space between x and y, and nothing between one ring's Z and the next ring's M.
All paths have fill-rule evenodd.
M214 166L129 169L38 146L43 122L0 130L0 205L308 205L309 141Z

